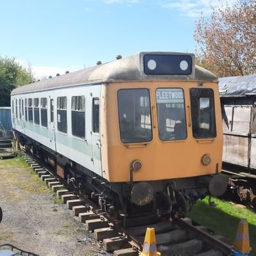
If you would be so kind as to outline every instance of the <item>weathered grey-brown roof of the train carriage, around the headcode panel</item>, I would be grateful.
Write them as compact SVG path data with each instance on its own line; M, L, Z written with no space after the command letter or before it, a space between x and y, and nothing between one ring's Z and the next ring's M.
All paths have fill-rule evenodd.
M189 76L182 75L150 75L144 73L143 56L145 54L156 55L179 55L190 56L192 60L192 72ZM38 81L24 86L19 86L12 91L11 95L19 93L38 92L43 90L52 90L55 88L76 86L79 84L106 83L111 81L138 81L138 80L197 80L197 81L218 81L208 70L195 65L195 55L180 52L140 52L127 58L111 61L95 67L84 68L75 72L70 72L44 81Z

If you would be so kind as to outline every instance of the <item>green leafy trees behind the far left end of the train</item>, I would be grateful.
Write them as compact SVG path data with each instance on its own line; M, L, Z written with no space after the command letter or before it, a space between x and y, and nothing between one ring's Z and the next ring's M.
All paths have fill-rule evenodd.
M10 93L18 85L31 83L33 77L15 58L0 57L0 106L10 106Z

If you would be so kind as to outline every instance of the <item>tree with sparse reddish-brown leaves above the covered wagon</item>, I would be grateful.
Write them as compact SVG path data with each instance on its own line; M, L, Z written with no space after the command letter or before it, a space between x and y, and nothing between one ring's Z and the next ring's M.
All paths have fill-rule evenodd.
M199 65L217 76L244 76L256 72L256 1L237 0L212 8L211 18L195 26Z

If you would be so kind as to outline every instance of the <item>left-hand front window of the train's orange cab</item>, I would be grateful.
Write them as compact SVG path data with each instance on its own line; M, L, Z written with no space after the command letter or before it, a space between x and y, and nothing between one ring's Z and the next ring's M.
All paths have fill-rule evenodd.
M150 96L147 89L123 89L117 93L122 143L152 140Z

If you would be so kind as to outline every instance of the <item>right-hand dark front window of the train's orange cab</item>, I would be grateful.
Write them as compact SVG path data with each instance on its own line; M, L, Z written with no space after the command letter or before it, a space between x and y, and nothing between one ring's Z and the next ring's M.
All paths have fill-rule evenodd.
M193 137L215 138L216 124L214 93L211 89L193 88L190 90Z

